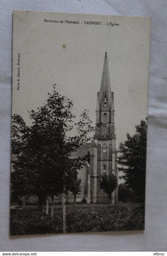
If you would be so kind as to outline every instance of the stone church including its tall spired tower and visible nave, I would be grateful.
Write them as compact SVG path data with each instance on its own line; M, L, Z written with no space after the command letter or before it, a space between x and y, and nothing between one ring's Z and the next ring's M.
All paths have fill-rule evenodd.
M114 126L114 93L111 91L107 52L103 64L100 91L97 92L96 123L94 140L91 143L82 145L72 154L72 158L82 157L89 151L93 157L90 163L87 161L83 169L78 170L78 177L82 180L82 190L76 196L76 202L84 199L90 203L109 203L107 194L100 190L98 179L102 175L116 175L117 151L115 148L115 126ZM118 203L118 188L112 193L112 204ZM66 202L74 202L74 196L68 194Z

